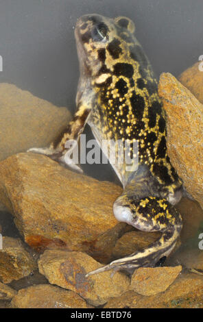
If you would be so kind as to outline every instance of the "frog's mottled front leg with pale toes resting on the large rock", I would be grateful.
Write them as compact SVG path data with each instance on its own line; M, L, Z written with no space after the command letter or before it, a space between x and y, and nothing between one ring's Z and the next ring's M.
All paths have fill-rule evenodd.
M74 164L69 156L80 138L80 134L86 125L90 112L91 108L80 105L77 112L73 116L73 120L68 124L64 132L62 132L49 147L34 147L29 149L28 152L44 154L53 160L68 165L76 171L82 172L80 167Z

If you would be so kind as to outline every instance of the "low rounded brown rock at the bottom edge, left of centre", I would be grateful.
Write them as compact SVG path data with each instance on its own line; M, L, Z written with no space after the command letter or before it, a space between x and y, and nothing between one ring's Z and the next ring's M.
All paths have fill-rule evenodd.
M40 284L19 290L12 299L13 308L91 308L72 290Z

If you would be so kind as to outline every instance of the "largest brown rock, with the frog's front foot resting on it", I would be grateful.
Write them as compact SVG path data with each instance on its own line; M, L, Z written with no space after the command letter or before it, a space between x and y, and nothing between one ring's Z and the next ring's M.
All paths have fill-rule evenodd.
M73 173L34 153L0 164L0 200L14 214L26 243L38 250L94 247L99 236L118 224L112 204L120 193L115 184Z

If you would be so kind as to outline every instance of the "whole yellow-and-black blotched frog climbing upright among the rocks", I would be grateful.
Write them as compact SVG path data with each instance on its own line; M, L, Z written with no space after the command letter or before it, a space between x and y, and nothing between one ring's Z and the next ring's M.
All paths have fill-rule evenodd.
M100 147L103 140L128 140L136 166L127 171L125 162L112 164L123 186L113 212L118 221L143 232L160 232L161 236L86 277L110 269L132 273L139 267L155 267L174 249L182 229L182 217L174 207L183 195L182 179L167 153L166 116L158 97L158 82L135 34L133 21L125 16L85 14L77 19L80 78L76 112L49 147L29 149L81 171L70 162L73 145L67 143L77 143L86 124ZM135 140L137 154L132 150Z

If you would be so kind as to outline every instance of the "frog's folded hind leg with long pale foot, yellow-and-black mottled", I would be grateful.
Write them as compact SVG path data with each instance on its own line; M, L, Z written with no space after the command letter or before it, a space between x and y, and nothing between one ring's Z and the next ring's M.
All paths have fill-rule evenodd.
M154 267L160 258L168 256L174 249L182 229L182 218L166 199L145 197L134 200L121 195L115 201L114 213L119 221L124 221L139 230L163 234L142 251L114 260L105 267L88 273L87 276L109 269L134 271L139 267Z

